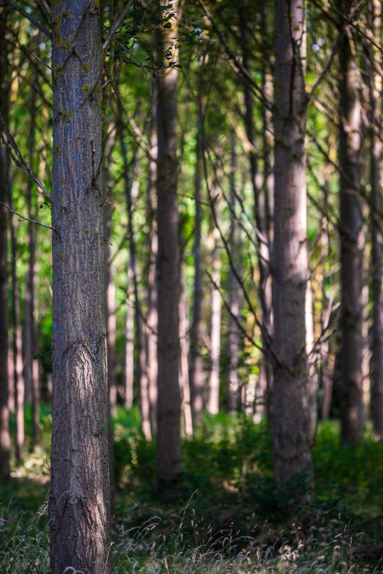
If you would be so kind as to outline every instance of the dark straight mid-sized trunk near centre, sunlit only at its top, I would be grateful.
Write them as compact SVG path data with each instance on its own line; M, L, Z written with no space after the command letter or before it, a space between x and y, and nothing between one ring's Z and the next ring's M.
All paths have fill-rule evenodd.
M165 0L164 0L165 2ZM163 3L163 2L161 2ZM177 14L176 2L170 2ZM162 29L159 42L177 58L178 26ZM169 482L181 472L180 396L178 386L178 197L177 197L177 76L175 68L158 75L158 481Z

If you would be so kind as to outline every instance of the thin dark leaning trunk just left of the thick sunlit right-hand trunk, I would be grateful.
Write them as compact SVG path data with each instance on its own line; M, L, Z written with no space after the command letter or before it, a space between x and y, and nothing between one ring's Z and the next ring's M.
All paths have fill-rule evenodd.
M246 69L250 69L249 66L249 30L246 25L246 14L243 10L240 13L241 17L241 34L244 41L243 44L243 65ZM251 96L251 90L247 82L244 83L244 96L245 96L245 129L247 133L247 138L252 146L249 153L250 167L251 167L251 181L253 187L253 197L254 197L254 214L257 227L263 237L260 239L257 236L257 242L259 246L258 255L258 265L259 265L259 300L262 313L262 323L264 331L271 337L271 306L272 306L272 285L271 285L271 275L269 270L269 246L268 246L268 220L267 220L267 205L269 209L272 208L272 197L265 195L265 187L260 189L257 183L257 157L255 153L255 127L253 121L253 100ZM267 118L269 119L269 117ZM265 130L265 127L264 127ZM268 180L268 186L270 186L271 181ZM270 189L268 188L268 193L270 194ZM269 226L271 229L272 227ZM263 337L263 356L260 363L260 381L259 386L261 389L267 391L271 389L272 386L272 369L271 369L271 356L267 347L267 343ZM265 401L266 397L263 397Z

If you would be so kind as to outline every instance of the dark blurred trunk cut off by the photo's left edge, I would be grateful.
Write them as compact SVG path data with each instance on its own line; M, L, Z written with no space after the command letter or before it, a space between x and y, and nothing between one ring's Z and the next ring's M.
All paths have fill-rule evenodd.
M8 72L6 13L0 7L0 112L7 122ZM5 134L2 134L3 137ZM8 150L0 142L0 200L7 203L9 188ZM8 261L7 210L0 205L0 479L9 475L9 410L8 410Z

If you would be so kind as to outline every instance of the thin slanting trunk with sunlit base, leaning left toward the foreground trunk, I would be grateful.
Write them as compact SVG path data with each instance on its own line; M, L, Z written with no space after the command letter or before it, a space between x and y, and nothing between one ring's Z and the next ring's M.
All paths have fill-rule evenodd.
M134 289L134 309L136 319L137 353L138 353L138 380L140 385L141 430L146 440L151 440L152 433L150 426L149 387L148 387L148 377L146 371L147 366L146 347L142 327L142 312L138 295L138 282L137 282L137 271L136 271L136 245L134 241L134 228L133 228L132 184L129 176L128 159L123 137L122 123L120 123L119 131L120 131L121 150L124 161L124 182L126 192L126 205L128 211L129 257L130 257L129 265L131 267L133 289Z

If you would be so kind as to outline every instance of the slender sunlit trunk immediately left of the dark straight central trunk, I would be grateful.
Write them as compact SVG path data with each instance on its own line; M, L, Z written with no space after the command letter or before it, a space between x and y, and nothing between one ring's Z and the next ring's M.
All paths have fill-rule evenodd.
M158 234L157 234L157 82L153 83L153 111L150 126L150 153L149 162L149 190L148 199L151 214L150 230L150 260L148 272L148 316L147 316L147 374L150 400L150 424L152 432L157 421L157 333L158 333L158 290L157 290L157 257L158 257Z

